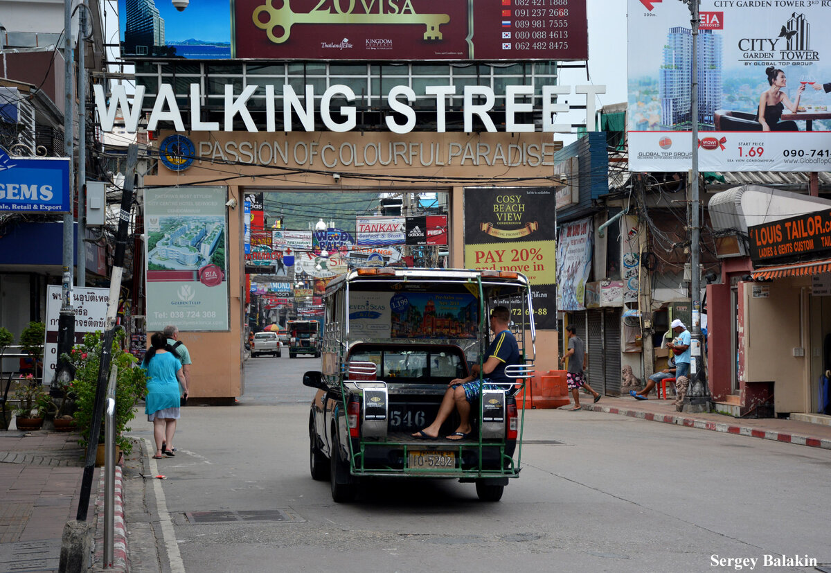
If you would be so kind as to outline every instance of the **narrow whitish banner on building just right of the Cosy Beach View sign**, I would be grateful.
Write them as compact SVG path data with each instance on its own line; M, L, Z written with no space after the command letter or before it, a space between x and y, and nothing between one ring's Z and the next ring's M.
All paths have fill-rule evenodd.
M557 241L557 309L585 310L586 283L592 269L592 218L560 225Z

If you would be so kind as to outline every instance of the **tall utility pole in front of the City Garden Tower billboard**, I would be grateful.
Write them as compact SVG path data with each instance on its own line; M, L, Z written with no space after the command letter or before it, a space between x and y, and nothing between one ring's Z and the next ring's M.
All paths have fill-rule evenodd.
M691 358L690 358L690 387L684 398L684 412L707 412L710 409L710 388L704 368L701 343L701 266L700 239L701 239L701 205L698 200L698 26L700 0L682 0L690 8L690 23L692 25L692 82L690 94L690 121L692 124L692 169L690 180L690 284L691 284Z

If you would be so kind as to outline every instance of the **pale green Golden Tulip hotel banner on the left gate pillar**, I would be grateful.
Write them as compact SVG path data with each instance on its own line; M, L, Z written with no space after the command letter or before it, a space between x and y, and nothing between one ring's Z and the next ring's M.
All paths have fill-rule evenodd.
M147 328L229 329L225 187L145 190Z

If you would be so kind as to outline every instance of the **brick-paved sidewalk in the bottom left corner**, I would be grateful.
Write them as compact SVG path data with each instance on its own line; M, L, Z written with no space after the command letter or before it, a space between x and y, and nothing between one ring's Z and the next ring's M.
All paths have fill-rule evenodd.
M84 450L77 441L75 432L0 432L0 571L58 571L63 528L76 518L81 494ZM103 510L96 507L100 473L93 477L89 523Z

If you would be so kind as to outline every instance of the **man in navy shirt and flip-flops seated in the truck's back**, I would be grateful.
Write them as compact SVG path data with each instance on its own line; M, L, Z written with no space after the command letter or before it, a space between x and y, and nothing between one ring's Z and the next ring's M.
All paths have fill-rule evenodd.
M493 383L516 382L505 375L506 366L521 363L519 346L508 328L510 319L510 311L504 306L496 306L490 313L490 329L494 331L495 336L488 348L487 358L482 364L482 373L485 376L482 388L486 390L498 388ZM473 428L470 427L470 404L476 398L479 398L479 364L474 364L473 368L470 368L470 376L467 378L450 380L435 420L430 426L414 433L413 437L435 440L439 437L441 424L450 417L454 409L459 411L459 427L447 439L457 442L469 437L473 432Z

